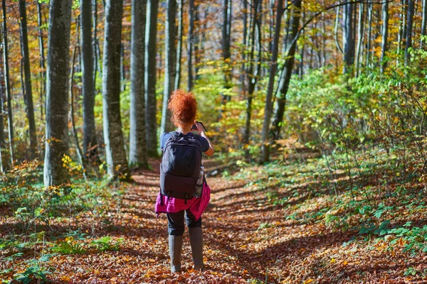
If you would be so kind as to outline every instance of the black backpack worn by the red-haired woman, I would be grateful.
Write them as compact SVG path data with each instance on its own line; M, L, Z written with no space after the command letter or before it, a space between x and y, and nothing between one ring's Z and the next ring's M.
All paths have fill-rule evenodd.
M201 143L176 131L167 140L160 164L160 193L190 200L200 175Z

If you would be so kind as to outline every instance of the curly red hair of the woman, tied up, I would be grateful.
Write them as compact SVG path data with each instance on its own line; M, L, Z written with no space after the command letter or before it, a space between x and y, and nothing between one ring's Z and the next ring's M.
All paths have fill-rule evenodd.
M167 108L172 113L172 123L175 126L186 126L196 119L197 102L191 92L176 89L172 92Z

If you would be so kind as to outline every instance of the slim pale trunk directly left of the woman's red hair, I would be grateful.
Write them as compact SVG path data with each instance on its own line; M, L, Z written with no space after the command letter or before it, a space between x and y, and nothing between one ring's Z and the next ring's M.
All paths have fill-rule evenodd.
M169 97L174 90L176 74L176 48L175 48L175 31L176 31L176 0L166 1L166 20L164 30L164 88L163 88L163 108L162 123L160 124L160 133L172 131L171 114L167 109Z

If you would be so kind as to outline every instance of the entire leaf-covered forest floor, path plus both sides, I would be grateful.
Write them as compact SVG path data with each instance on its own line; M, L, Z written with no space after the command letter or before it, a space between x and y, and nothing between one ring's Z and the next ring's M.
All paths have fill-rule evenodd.
M35 230L43 236L30 234L19 214L1 207L0 278L33 283L45 276L53 283L427 283L425 182L398 187L396 180L385 190L371 175L359 173L350 181L336 173L332 187L318 163L241 165L245 170L234 168L234 175L220 170L221 177L208 178L212 195L203 216L208 268L203 273L191 270L187 231L185 271L169 272L167 219L153 210L156 171L135 174L135 182L117 189L120 194L100 199L98 209L70 207L68 215L40 222ZM353 197L339 190L358 180L364 186ZM38 241L26 245L31 238Z

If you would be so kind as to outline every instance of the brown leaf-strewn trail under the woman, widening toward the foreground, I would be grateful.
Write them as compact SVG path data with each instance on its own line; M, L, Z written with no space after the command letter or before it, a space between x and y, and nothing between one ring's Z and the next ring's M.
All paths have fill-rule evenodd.
M152 168L158 169L159 162ZM208 269L191 271L186 229L185 271L171 274L167 219L154 214L159 173L147 170L133 178L120 202L112 204L108 224L100 222L95 231L122 239L120 251L56 256L50 263L55 283L264 283L266 275L267 283L406 283L401 278L408 265L404 255L396 254L391 266L386 251L366 253L357 244L343 248L357 232L286 219L285 206L273 206L265 190L223 178L208 178L211 203L202 217ZM286 189L278 192L287 194ZM87 223L82 218L75 226Z

